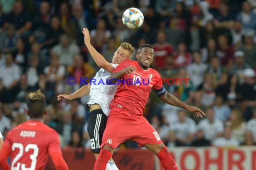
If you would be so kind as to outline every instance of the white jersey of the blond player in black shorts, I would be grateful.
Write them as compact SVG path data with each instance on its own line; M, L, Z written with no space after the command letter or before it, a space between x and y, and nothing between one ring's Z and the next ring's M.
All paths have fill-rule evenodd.
M118 64L112 64L114 68L118 66ZM95 103L99 104L102 108L103 113L108 116L110 112L109 105L114 98L114 94L116 92L117 85L106 85L106 79L110 76L110 72L105 69L100 69L94 79L95 84L91 83L90 89L90 100L87 103L88 106L93 105Z

